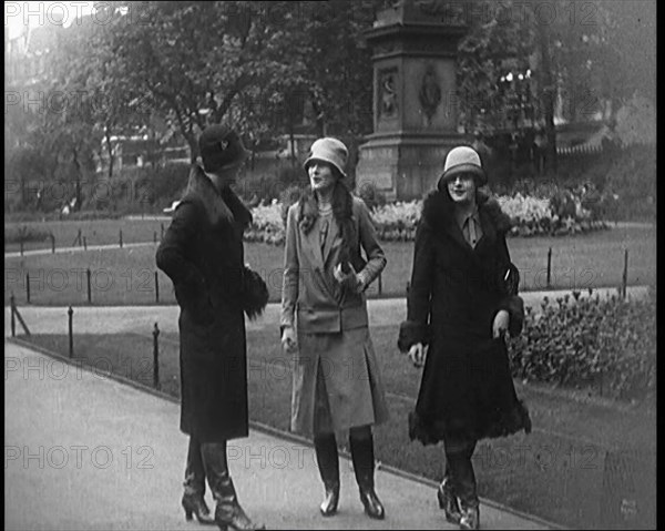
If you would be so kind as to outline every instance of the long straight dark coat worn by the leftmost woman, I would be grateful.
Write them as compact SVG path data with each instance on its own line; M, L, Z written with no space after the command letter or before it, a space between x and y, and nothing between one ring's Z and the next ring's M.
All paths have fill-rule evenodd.
M195 165L156 254L181 307L181 430L202 442L248 436L243 232L250 221L241 200Z

